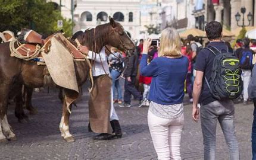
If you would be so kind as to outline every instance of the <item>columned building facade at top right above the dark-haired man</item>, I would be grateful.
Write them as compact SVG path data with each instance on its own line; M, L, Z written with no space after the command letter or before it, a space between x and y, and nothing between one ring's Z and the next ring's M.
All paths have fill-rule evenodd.
M228 30L235 30L238 24L235 15L241 14L241 7L246 8L245 25L249 24L247 15L253 15L250 26L256 24L256 2L255 0L197 0L193 15L195 16L195 27L204 30L205 23L218 21ZM242 17L242 14L241 14ZM242 18L241 18L242 19ZM242 20L239 21L242 24Z

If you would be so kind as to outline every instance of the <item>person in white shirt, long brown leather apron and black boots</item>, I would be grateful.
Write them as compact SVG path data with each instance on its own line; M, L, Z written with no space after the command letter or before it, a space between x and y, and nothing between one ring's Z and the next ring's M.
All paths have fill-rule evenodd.
M86 46L79 46L78 49L88 55L88 59L94 60L92 66L94 85L89 97L89 112L93 113L93 116L89 117L88 128L100 134L93 137L93 139L121 138L123 134L113 104L113 91L111 90L112 84L105 47L102 47L99 53L89 51ZM112 134L110 133L110 126L113 129Z

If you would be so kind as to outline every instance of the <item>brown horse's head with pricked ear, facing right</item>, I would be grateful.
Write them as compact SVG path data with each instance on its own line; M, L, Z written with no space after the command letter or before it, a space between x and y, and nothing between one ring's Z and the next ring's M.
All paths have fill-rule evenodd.
M112 17L109 17L109 20L111 28L107 43L110 46L117 47L117 49L123 52L134 49L135 44L127 35L126 31L124 31L123 26L120 23L117 23Z

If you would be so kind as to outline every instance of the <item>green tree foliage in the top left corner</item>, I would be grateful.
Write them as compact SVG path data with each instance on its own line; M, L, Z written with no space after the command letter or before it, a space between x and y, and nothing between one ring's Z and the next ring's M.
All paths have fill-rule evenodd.
M63 30L71 36L73 23L61 16L52 2L45 0L0 0L0 31L17 33L29 28L40 34L49 35L59 30L57 21L63 20Z

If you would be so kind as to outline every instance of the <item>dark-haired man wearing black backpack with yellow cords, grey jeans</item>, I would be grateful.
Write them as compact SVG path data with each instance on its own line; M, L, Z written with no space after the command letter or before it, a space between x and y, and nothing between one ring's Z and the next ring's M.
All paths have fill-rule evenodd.
M215 159L217 121L229 148L230 159L239 159L232 101L241 94L239 60L228 53L226 44L221 41L220 23L211 21L205 26L205 31L210 43L196 57L192 117L198 121L200 103L204 159Z

